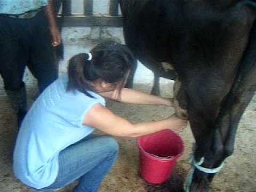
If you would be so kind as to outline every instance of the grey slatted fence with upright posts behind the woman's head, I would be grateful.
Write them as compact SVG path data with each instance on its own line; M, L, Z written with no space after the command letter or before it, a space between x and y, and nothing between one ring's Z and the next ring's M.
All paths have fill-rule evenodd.
M108 14L93 14L93 0L83 1L83 14L71 13L71 0L55 0L53 6L57 16L57 23L61 26L122 26L122 16L118 15L119 0L109 1ZM59 11L61 8L61 11Z

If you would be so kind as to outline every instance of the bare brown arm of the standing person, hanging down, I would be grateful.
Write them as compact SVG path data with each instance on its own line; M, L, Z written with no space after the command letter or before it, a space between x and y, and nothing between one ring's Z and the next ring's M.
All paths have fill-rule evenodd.
M61 37L52 11L52 0L48 0L48 4L45 8L45 13L49 20L50 30L52 34L52 45L58 46L61 42Z

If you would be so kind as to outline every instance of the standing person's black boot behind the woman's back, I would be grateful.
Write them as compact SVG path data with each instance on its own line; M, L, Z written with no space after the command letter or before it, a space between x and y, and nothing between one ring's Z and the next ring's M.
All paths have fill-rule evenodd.
M12 104L14 112L17 114L18 127L20 127L22 120L27 113L25 84L22 84L22 87L19 91L5 90L5 92Z

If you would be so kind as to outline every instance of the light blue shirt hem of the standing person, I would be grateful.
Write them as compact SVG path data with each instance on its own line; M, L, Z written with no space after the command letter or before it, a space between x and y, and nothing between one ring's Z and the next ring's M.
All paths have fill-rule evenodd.
M47 5L47 0L0 0L0 14L22 14Z

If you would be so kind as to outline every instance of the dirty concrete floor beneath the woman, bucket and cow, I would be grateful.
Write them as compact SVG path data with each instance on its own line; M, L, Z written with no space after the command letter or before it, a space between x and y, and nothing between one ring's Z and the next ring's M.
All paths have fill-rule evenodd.
M25 81L26 81L25 77ZM27 86L28 101L33 102L31 98L36 92L36 84ZM164 85L162 95L172 96L172 83ZM149 92L150 85L137 85L135 89ZM3 90L3 82L0 79L0 191L2 192L31 192L33 190L26 188L12 173L12 149L17 134L15 116L10 109L10 103L7 101ZM122 117L132 122L149 121L152 119L162 119L170 116L173 109L163 106L131 105L118 102L107 102L107 106ZM226 160L225 166L220 173L216 175L212 183L211 191L223 192L256 192L256 97L253 98L250 106L239 124L236 138L235 154ZM189 127L181 134L185 142L186 150L176 166L177 174L183 178L189 170L187 161L191 153L191 145L194 142ZM149 185L138 176L138 149L135 145L135 139L116 138L120 145L120 153L113 169L103 180L99 192L153 192L169 191L163 185ZM71 183L62 192L71 191L76 183Z

